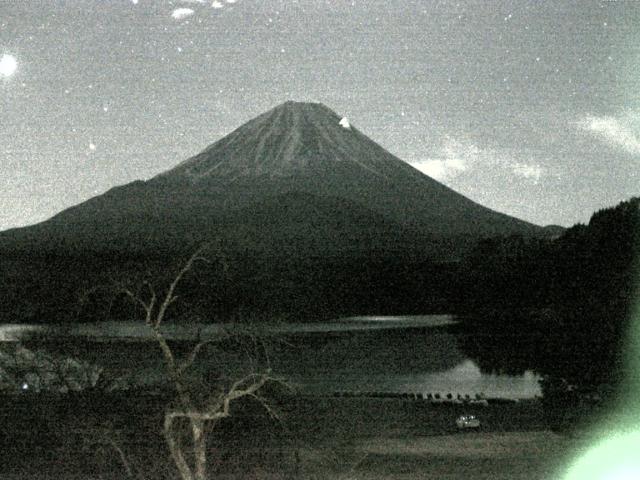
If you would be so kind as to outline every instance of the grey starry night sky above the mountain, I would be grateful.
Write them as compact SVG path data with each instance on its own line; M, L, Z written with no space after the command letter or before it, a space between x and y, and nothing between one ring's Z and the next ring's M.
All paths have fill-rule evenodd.
M322 102L497 210L640 194L640 2L0 0L0 230Z

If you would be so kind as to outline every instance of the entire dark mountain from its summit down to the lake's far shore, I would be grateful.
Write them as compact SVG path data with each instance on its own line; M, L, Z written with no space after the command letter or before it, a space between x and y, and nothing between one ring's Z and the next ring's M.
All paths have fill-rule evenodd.
M545 230L422 174L323 105L287 102L148 181L1 232L0 320L114 314L106 300L78 313L78 291L149 265L166 275L212 241L230 273L211 267L181 293L207 318L450 311L456 263L433 261L511 234Z

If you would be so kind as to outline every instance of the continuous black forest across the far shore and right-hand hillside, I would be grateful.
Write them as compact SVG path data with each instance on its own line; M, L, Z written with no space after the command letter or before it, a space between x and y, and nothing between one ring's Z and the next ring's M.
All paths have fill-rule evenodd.
M589 348L598 358L617 351L612 342L624 328L621 319L628 317L633 293L637 217L638 199L634 199L596 213L588 225L570 228L555 240L486 239L462 262L449 263L432 261L419 249L385 251L380 245L367 253L314 257L252 253L235 244L216 244L205 252L212 262L200 263L181 285L184 301L175 307L183 310L175 314L219 321L245 312L253 318L255 313L306 321L352 314L453 312L481 329L478 338L506 333L540 338L520 342L512 356L537 358L539 371L545 371L546 359L556 365L561 354L567 356L570 368L576 364L571 351L583 344L589 350L586 346L594 343L593 338L598 342ZM109 251L58 244L3 247L0 322L136 318L139 312L123 301L117 285L137 288L151 279L161 289L198 245L138 251L114 245ZM501 358L503 347L498 342L495 355L488 344L478 347L481 363L492 355ZM607 359L607 364L612 361ZM513 360L504 366L494 364L492 360L490 368L524 366Z

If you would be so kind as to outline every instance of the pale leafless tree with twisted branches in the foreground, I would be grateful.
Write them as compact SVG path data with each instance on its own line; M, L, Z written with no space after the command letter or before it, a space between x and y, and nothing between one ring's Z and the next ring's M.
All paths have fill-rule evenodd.
M203 250L204 247L201 247L189 257L163 292L157 292L149 280L144 281L137 291L120 287L131 301L142 308L144 321L162 351L167 376L176 391L177 405L169 407L165 412L163 434L182 480L205 480L207 477L207 434L218 421L231 415L232 402L243 397L251 397L259 401L270 415L275 416L275 412L259 395L259 391L268 382L281 382L281 379L272 376L271 370L267 368L264 371L245 374L226 388L211 388L211 391L207 392L194 391L188 370L193 366L198 354L208 344L228 338L230 334L222 333L215 339L202 339L199 334L195 345L186 355L179 358L163 333L162 326L171 306L179 298L176 290L180 282L197 262L209 262L203 255ZM175 424L178 420L188 422L190 446L184 445L185 442L176 431Z

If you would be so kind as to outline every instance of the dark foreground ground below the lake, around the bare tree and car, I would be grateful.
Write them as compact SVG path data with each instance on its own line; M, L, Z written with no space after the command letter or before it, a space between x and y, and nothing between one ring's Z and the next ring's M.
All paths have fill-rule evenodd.
M177 478L160 396L2 399L3 479ZM245 403L211 434L211 478L552 479L574 442L545 430L538 402L489 407L288 395L279 419ZM455 418L475 413L479 432ZM127 471L124 464L128 464Z

